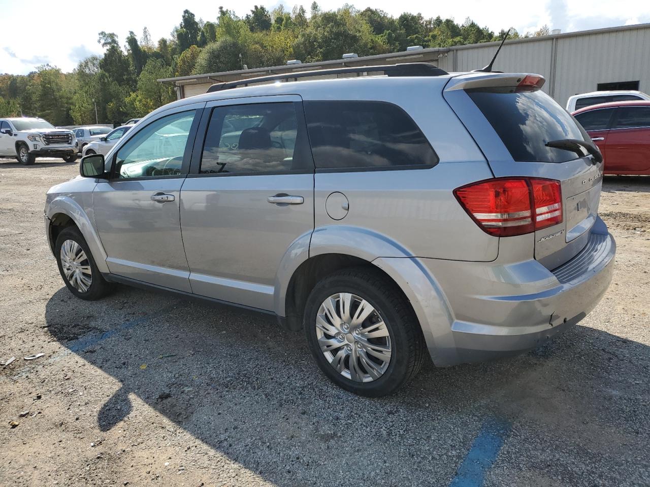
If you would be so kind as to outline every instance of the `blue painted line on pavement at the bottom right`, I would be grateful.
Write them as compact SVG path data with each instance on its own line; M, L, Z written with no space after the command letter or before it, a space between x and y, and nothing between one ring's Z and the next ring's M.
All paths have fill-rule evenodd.
M486 419L449 487L481 487L511 427L505 419Z

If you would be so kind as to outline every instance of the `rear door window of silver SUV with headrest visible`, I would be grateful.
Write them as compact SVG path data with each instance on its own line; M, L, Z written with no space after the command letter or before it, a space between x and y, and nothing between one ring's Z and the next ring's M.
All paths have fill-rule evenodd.
M201 173L248 174L313 170L304 127L292 102L214 108Z

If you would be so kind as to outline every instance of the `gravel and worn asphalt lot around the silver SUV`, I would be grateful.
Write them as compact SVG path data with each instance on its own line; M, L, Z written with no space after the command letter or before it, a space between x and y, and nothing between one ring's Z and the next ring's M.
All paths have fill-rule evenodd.
M0 160L0 485L650 485L650 177L605 179L616 271L580 325L365 399L272 318L126 287L75 299L42 210L77 170Z

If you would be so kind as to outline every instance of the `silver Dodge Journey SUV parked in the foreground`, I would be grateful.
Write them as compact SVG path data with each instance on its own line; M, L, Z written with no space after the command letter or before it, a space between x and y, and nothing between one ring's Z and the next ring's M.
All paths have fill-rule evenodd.
M603 162L543 78L354 69L216 84L84 157L45 203L66 286L274 314L368 396L425 350L476 362L584 318L614 267Z

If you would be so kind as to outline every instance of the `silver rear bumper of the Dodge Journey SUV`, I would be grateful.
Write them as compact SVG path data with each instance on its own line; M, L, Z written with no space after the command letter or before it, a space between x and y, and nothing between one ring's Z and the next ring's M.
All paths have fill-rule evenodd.
M614 270L616 243L598 218L587 245L549 271L536 260L439 262L422 259L452 314L447 345L430 352L437 366L480 362L543 345L599 303ZM426 336L426 334L425 334Z

